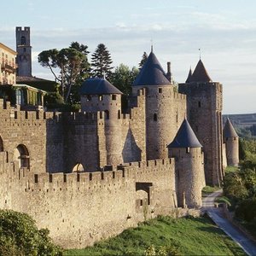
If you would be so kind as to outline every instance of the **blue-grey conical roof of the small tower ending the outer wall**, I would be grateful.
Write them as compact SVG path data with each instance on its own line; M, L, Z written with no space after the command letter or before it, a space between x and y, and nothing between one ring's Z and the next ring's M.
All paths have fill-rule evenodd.
M176 137L167 148L202 148L187 119L183 120Z

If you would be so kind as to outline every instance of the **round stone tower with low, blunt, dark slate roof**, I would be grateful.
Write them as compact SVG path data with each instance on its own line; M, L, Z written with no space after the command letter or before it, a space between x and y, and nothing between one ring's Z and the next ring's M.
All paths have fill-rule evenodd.
M84 112L104 112L107 164L119 165L121 148L121 95L106 79L87 79L81 88L81 109Z

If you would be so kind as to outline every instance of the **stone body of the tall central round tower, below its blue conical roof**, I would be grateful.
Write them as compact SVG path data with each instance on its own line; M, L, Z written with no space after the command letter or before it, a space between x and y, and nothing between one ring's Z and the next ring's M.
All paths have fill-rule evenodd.
M171 143L186 116L186 96L173 90L172 85L134 86L133 95L146 87L147 159L168 156L166 145Z

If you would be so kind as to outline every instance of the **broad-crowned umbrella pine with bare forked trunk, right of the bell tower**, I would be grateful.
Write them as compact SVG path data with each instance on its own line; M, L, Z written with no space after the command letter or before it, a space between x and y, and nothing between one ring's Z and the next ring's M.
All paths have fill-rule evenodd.
M44 50L38 55L38 62L43 67L48 67L60 82L64 102L68 102L72 87L78 80L89 75L86 49L85 45L73 42L70 48Z

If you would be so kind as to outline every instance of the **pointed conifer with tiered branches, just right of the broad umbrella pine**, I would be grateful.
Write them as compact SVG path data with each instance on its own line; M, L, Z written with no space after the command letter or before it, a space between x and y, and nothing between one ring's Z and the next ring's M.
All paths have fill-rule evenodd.
M95 52L91 55L91 66L93 77L110 79L112 75L111 64L113 63L111 55L105 44L98 44Z

